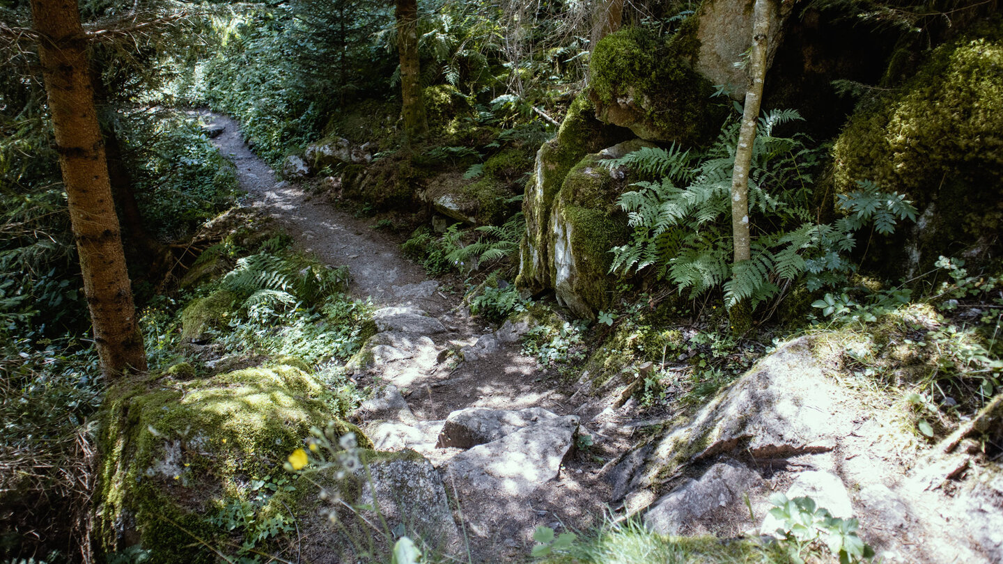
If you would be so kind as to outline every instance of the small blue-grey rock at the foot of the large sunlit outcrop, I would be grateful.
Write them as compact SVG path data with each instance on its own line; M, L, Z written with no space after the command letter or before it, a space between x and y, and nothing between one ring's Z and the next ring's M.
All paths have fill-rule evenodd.
M699 480L687 480L655 502L644 523L663 535L678 535L690 522L712 512L745 511L742 493L761 484L755 471L737 462L718 463Z

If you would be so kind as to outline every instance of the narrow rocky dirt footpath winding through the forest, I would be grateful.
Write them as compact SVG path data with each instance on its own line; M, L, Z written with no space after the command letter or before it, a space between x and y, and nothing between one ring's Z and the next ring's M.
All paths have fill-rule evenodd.
M439 470L472 560L524 560L538 526L575 531L601 521L611 492L604 464L629 445L603 413L572 404L587 394L560 389L522 353L526 328L493 331L471 318L389 236L278 182L237 121L202 114L224 127L213 140L237 167L245 205L275 217L302 251L347 266L351 293L380 308L381 332L367 345L373 360L355 372L376 392L360 409L363 429L378 449L413 449ZM487 437L470 437L488 427Z

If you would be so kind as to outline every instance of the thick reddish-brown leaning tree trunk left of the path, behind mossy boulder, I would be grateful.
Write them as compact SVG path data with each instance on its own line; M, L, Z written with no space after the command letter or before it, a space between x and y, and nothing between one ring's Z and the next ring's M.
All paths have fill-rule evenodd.
M31 0L83 291L106 377L146 369L76 0Z

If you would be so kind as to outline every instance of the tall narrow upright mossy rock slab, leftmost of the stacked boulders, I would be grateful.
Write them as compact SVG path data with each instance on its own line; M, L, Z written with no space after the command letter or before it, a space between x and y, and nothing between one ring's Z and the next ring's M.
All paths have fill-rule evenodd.
M523 214L526 235L520 244L517 286L539 292L551 287L550 218L554 199L565 177L583 157L632 136L630 131L595 118L596 106L582 94L572 102L558 134L537 153L533 175L526 184Z

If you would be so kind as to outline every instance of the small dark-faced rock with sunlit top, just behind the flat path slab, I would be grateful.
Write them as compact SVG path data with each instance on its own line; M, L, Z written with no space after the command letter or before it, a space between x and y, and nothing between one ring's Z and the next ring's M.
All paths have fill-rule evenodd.
M436 446L469 449L497 441L521 429L561 418L543 407L510 411L484 407L467 407L453 411L445 418Z

